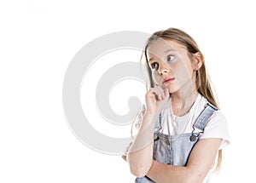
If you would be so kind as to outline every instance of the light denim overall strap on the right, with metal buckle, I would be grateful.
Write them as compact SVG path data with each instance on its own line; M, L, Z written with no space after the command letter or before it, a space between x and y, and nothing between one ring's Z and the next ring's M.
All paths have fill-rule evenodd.
M196 137L199 136L199 134L194 134L195 129L200 129L200 134L203 133L205 127L207 126L209 118L212 117L213 112L216 112L217 110L218 108L216 108L215 106L212 106L209 103L206 104L204 110L200 113L199 117L196 118L195 123L193 124L193 131L190 137L191 141L195 141Z

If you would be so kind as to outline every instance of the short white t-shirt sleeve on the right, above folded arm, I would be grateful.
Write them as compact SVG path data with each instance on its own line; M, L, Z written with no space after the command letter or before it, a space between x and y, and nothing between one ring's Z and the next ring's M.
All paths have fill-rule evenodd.
M223 149L230 144L228 123L224 114L220 111L214 112L210 117L201 139L218 138L222 139L219 149Z

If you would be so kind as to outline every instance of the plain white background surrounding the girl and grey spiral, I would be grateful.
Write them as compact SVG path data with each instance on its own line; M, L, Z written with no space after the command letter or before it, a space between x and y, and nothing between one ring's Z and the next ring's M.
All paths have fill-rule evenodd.
M5 2L0 3L0 182L133 182L120 156L95 152L73 135L62 108L62 83L73 56L96 37L171 26L199 44L229 121L231 144L212 182L253 181L253 1ZM127 95L121 88L113 93Z

